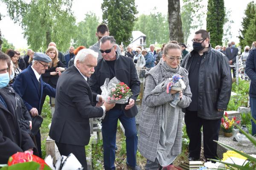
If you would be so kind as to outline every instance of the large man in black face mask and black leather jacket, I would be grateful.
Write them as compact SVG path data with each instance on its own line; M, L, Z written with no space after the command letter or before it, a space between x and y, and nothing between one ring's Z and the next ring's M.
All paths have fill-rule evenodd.
M186 108L185 123L189 136L189 160L200 159L201 127L204 134L204 156L216 159L218 133L223 111L230 99L232 78L227 57L209 44L205 30L195 32L193 51L183 59L181 67L189 71L192 102Z

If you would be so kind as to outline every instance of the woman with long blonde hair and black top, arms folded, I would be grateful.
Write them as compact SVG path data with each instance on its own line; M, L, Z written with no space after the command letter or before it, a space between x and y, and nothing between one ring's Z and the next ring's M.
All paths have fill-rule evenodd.
M58 59L58 50L54 46L49 46L45 52L51 59L52 62L49 63L49 67L45 70L44 74L41 74L41 77L44 82L56 88L58 78L63 71L65 71L65 66L59 59ZM46 94L44 93L41 99L40 111L42 111L44 100Z

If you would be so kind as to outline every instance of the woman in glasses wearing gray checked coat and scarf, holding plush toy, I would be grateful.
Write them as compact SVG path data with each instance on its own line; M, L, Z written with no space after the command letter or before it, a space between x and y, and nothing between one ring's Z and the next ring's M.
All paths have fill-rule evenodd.
M181 152L182 119L191 102L188 72L180 67L181 49L176 41L167 44L159 64L146 73L145 90L139 126L138 148L147 159L145 170L158 170L172 164ZM169 78L179 74L186 88L166 92ZM170 105L179 93L179 101Z

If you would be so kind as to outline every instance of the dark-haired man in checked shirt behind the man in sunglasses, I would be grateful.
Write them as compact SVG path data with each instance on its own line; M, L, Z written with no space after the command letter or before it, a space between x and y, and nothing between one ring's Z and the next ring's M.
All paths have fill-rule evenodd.
M97 27L97 32L95 33L95 35L96 35L96 38L98 39L98 42L96 42L93 46L91 46L90 49L99 54L97 58L97 60L99 60L99 59L102 59L102 53L99 51L99 41L103 36L109 36L108 26L106 24L100 24ZM116 44L116 52L119 55L122 54L119 48L119 45L117 44Z

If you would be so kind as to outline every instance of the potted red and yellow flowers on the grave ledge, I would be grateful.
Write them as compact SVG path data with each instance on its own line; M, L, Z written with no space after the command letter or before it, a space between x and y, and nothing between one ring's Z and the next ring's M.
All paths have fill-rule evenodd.
M239 123L240 120L236 120L236 117L233 117L232 119L228 118L227 112L225 112L225 115L221 118L221 128L224 133L232 133L234 125Z

